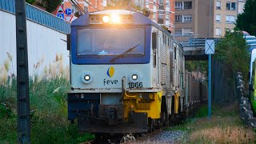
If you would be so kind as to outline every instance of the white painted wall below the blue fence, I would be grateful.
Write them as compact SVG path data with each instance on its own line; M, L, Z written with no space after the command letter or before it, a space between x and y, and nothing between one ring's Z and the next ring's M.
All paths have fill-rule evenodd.
M15 15L0 10L0 70L4 65L7 53L13 57L9 74L17 73L16 68L16 23ZM26 20L27 45L29 58L29 72L32 74L42 74L44 68L55 61L56 55L62 55L63 65L69 66L69 51L66 50L66 34L50 29L38 23ZM63 41L63 40L65 41ZM43 61L42 61L43 59ZM42 64L37 70L34 66L38 62Z

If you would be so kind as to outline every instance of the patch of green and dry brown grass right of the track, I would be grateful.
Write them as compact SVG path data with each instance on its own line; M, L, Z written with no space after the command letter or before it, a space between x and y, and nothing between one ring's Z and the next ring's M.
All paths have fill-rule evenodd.
M180 126L168 130L183 130L186 136L181 142L190 143L254 143L256 134L244 126L238 115L238 106L212 107L212 118L207 118L207 106L201 106Z

